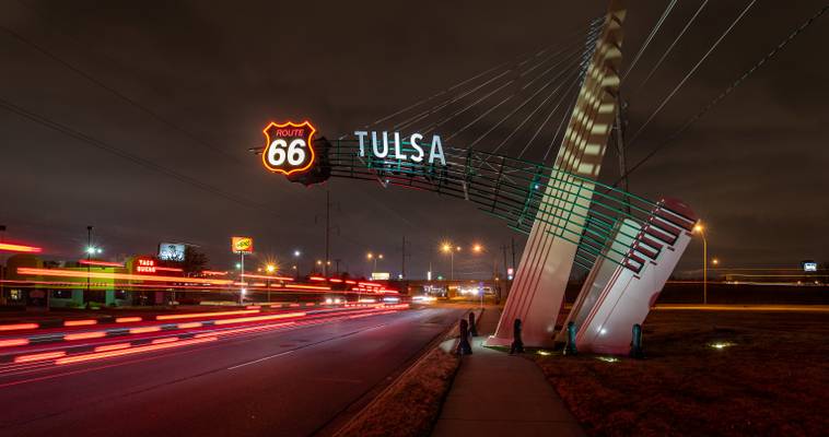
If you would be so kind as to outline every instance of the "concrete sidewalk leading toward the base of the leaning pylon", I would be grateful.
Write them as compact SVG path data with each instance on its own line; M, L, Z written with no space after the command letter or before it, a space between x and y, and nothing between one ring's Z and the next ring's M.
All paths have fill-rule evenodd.
M500 316L495 307L483 312L432 435L584 436L535 363L481 346Z

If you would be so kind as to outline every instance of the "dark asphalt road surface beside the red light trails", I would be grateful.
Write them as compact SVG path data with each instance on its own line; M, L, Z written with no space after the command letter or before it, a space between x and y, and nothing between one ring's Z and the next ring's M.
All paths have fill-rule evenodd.
M310 435L462 314L407 310L3 376L0 435Z

